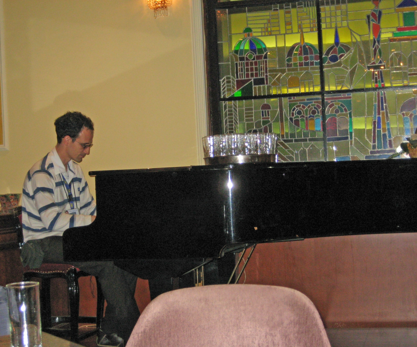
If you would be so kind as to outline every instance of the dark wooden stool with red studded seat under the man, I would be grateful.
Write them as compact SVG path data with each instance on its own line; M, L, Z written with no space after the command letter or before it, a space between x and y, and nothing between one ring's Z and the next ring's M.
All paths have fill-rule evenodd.
M38 277L41 279L40 316L42 330L44 332L48 332L55 336L70 335L71 341L78 342L94 335L100 329L104 310L104 296L101 291L100 282L98 282L98 277L95 277L97 283L97 316L79 316L80 290L78 287L78 278L83 276L90 275L69 264L45 263L36 269L30 269L29 267L23 268L23 281L28 281L31 277ZM51 317L50 280L52 278L63 278L67 281L70 308L69 316ZM53 326L55 323L58 324ZM65 328L65 325L67 325L66 323L70 323L70 329ZM78 336L78 323L95 323L96 328Z

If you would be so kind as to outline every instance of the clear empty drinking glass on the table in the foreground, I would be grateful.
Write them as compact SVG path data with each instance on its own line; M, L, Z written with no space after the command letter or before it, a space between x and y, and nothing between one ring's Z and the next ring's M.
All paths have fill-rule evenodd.
M42 347L39 282L6 285L12 347Z

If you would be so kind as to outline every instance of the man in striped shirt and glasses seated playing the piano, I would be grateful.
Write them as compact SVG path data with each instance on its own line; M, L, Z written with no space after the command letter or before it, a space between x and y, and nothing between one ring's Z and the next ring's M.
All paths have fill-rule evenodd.
M64 263L62 235L95 219L95 200L78 165L93 146L94 127L80 112L55 120L57 145L33 165L23 183L23 266ZM113 262L65 262L98 276L107 301L98 346L123 346L138 320L137 277Z

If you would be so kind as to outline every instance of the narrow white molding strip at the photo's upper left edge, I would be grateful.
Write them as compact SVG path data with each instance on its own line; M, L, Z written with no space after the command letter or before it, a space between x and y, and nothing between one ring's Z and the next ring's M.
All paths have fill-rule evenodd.
M9 149L9 122L7 117L7 97L6 97L6 62L4 47L4 13L3 0L0 0L0 85L1 85L1 110L3 119L3 145L0 150Z

